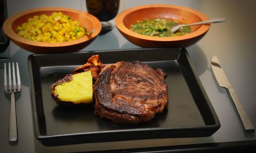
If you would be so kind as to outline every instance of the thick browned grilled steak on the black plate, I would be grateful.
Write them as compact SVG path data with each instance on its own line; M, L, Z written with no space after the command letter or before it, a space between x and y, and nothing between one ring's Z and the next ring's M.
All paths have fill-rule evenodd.
M139 61L106 65L94 86L95 114L125 124L152 120L168 105L165 77Z

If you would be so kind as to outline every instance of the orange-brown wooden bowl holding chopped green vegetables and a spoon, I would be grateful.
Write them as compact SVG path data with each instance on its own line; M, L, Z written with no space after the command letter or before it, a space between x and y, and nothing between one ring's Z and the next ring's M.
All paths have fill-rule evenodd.
M116 27L130 42L140 47L187 47L199 41L209 30L210 24L195 25L193 32L176 37L151 37L130 30L131 24L142 19L171 18L181 23L208 20L203 13L175 5L144 5L127 9L116 17Z

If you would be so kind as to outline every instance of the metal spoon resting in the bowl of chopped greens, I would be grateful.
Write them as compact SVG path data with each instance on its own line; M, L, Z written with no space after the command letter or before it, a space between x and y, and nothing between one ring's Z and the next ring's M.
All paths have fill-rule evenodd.
M210 20L191 23L191 24L179 24L179 25L174 26L172 29L170 29L170 32L175 33L181 27L188 27L191 25L198 25L198 24L219 23L219 22L225 22L225 21L226 21L226 18L215 18L215 19L210 19Z

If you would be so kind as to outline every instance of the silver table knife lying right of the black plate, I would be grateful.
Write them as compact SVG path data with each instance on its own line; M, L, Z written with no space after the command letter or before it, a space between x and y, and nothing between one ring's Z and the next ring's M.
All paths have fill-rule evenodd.
M212 68L212 71L214 72L215 78L216 78L217 82L219 83L219 85L221 87L226 88L230 97L232 98L234 106L236 106L238 114L243 122L245 131L246 132L254 132L254 126L251 123L249 116L246 114L243 106L241 105L241 102L238 98L237 93L234 91L233 87L229 83L229 81L226 77L226 74L225 74L217 56L212 57L211 68Z

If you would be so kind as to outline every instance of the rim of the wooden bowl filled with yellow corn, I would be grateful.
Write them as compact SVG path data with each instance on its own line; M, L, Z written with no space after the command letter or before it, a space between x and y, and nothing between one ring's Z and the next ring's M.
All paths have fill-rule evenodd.
M37 42L37 41L28 40L26 38L18 36L12 30L12 23L19 17L30 14L30 13L42 12L42 11L56 11L56 12L61 12L61 11L64 12L65 11L65 12L72 12L72 13L82 15L82 16L90 19L93 22L93 27L94 27L95 31L92 33L91 36L84 36L77 40L72 40L72 41L67 41L67 42L50 43L50 42ZM71 9L71 8L63 8L63 7L44 7L44 8L34 8L34 9L30 9L30 10L25 10L25 11L16 13L16 14L8 17L3 24L3 30L4 30L5 34L11 40L15 40L15 41L23 43L23 44L27 44L27 45L31 45L31 46L41 46L41 47L61 47L61 46L75 45L75 44L83 43L90 39L93 39L94 37L98 36L98 34L100 33L101 23L98 20L98 18L96 18L95 16L93 16L87 12L83 12L83 11L79 11L79 10L75 10L75 9Z

